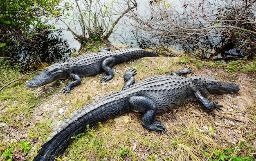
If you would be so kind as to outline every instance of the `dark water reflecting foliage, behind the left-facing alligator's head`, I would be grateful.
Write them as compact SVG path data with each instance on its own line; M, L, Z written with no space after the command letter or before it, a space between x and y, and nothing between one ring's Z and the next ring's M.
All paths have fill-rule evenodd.
M77 41L67 38L67 33L48 31L26 40L25 44L14 50L14 62L20 63L23 70L45 68L52 63L64 62L80 48Z

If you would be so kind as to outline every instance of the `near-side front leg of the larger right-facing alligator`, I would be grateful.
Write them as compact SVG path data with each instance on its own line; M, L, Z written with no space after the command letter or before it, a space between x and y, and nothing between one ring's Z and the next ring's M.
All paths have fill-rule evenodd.
M220 107L223 107L222 105L218 105L218 102L209 101L202 94L200 91L194 92L196 99L202 104L207 110L211 111L213 109L216 109L217 111L222 111Z

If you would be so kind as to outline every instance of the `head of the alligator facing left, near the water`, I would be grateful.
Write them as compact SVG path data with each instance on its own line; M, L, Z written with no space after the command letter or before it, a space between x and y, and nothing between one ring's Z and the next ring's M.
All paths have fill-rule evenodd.
M38 87L46 85L58 79L65 79L68 75L67 63L56 63L47 67L41 74L35 76L27 83L27 87Z

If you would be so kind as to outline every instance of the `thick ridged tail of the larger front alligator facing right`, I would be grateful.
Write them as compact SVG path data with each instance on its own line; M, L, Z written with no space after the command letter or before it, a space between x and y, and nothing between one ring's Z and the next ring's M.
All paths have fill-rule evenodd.
M56 128L52 137L43 144L34 161L54 161L70 144L72 137L85 131L87 125L94 125L103 120L129 112L127 93L124 90L104 96L78 110L70 119L66 119L60 128Z

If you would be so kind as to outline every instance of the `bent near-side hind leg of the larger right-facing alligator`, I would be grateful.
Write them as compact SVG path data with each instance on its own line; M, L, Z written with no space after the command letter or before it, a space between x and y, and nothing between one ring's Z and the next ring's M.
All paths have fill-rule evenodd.
M145 113L141 120L144 128L150 131L162 131L166 134L167 130L164 124L155 120L157 114L155 102L143 96L132 96L129 98L129 103L136 111Z

